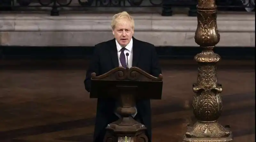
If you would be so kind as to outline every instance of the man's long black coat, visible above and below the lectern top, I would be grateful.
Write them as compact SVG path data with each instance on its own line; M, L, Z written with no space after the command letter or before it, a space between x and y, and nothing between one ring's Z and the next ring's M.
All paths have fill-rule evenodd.
M133 38L132 47L133 59L132 66L139 67L147 73L158 77L161 74L161 68L158 63L158 56L156 54L155 46ZM111 69L118 67L118 56L115 39L99 43L94 47L94 54L92 56L89 68L84 80L85 89L90 92L91 88L91 73L102 75ZM101 142L107 124L116 121L118 117L114 114L115 100L113 99L98 99L96 124L94 130L94 142ZM136 102L137 115L141 123L145 124L148 131L147 135L151 141L151 109L150 100L142 100Z

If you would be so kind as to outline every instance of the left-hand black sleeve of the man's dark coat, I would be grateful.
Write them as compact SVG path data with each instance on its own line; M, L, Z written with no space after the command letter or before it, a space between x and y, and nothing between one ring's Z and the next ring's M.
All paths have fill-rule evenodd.
M92 58L90 60L89 67L86 71L86 77L84 80L84 86L88 92L90 92L91 90L91 74L93 72L95 72L96 75L99 74L99 64L100 64L99 47L95 45Z

